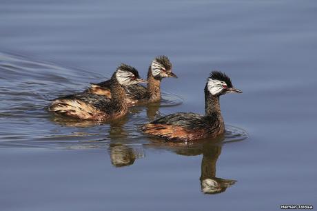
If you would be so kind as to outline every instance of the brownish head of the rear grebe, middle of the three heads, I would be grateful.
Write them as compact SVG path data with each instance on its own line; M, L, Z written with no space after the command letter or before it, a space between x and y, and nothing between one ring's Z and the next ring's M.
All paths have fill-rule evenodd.
M172 63L170 62L170 59L165 56L156 57L152 61L151 72L154 77L158 78L177 78L176 74L172 72Z

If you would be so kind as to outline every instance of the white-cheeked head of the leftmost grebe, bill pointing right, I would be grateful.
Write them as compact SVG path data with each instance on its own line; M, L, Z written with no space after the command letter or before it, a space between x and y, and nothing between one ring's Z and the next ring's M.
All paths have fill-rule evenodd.
M114 72L116 80L121 84L121 86L129 86L136 83L146 83L147 81L140 78L138 70L132 66L128 66L121 63Z

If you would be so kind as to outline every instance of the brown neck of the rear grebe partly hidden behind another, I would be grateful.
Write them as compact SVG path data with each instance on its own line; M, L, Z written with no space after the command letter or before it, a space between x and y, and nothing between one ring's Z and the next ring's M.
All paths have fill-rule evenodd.
M151 67L147 72L147 93L150 102L161 101L161 78L153 76Z

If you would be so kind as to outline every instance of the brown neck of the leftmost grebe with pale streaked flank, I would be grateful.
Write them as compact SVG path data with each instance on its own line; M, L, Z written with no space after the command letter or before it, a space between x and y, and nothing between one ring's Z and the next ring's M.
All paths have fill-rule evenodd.
M127 103L125 101L125 89L120 85L119 81L112 77L110 83L111 103L114 112L126 112Z

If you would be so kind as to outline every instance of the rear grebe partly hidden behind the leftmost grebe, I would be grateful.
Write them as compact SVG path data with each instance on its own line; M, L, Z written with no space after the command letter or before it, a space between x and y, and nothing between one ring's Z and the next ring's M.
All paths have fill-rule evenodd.
M161 80L167 77L177 78L176 74L172 72L170 59L165 56L156 57L147 72L147 88L140 84L125 87L129 106L133 106L136 103L154 103L161 101ZM92 84L86 92L111 97L110 80Z

